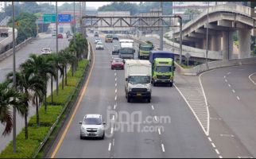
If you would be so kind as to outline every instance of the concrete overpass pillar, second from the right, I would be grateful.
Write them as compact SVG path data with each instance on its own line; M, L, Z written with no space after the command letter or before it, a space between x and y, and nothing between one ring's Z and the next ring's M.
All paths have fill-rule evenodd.
M232 32L223 32L223 60L232 59L233 38Z

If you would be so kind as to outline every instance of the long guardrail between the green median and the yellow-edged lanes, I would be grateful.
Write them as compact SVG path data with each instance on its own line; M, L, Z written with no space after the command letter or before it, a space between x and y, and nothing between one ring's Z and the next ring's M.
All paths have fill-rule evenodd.
M91 54L91 43L88 42L88 44L89 44L89 45L88 45L88 46L89 46L89 47L88 47L88 54ZM87 72L87 70L88 70L88 68L89 68L89 65L90 65L90 60L89 60L89 64L87 64L87 67L85 68L85 70L84 70L84 72L83 72L83 76L86 76L86 72ZM84 78L84 79L86 79L86 78ZM79 85L82 86L83 82L84 82L84 80L80 80L80 83L77 84L77 87L78 87ZM80 87L79 91L80 91L80 90L81 90L81 87ZM74 91L72 92L73 95L75 95L75 94L74 94L75 91L77 91L77 88L74 89ZM73 103L72 103L73 95L71 95L71 96L68 98L68 103L66 103L66 104L64 105L64 108L63 108L63 110L60 112L60 115L57 117L56 122L53 123L53 125L52 125L52 127L51 127L51 130L50 130L50 131L48 132L48 134L46 135L44 141L41 142L41 145L38 147L36 153L33 155L33 158L36 158L36 157L37 157L38 153L41 151L41 149L44 147L45 143L48 141L48 138L49 138L50 135L52 134L52 131L53 131L54 128L56 127L57 123L60 121L61 115L64 114L64 112L67 110L67 107L70 106L70 104L73 104ZM78 97L78 95L76 95L76 99L77 99L77 97ZM75 101L76 101L76 99L75 99Z

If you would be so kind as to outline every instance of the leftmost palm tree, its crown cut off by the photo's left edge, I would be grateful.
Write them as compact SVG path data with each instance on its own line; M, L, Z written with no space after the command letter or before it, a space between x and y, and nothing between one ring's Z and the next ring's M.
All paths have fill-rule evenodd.
M24 117L27 107L23 104L24 96L14 91L8 82L0 83L0 122L6 125L2 135L10 134L13 127L13 118L10 111L11 107L16 107L16 110L21 117Z

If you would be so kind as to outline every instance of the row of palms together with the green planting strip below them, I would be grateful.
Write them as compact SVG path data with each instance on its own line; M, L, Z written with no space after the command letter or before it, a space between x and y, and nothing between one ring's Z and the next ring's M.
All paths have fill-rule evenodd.
M5 82L0 83L0 122L6 126L2 135L10 135L13 128L11 107L17 108L17 113L21 114L25 123L21 133L17 134L17 152L13 153L13 142L10 142L0 158L33 157L64 107L71 101L88 64L88 60L83 58L83 55L87 55L87 40L80 33L76 33L76 38L76 45L70 43L68 48L58 53L40 56L31 54L16 73L17 90L13 84L13 72L6 76ZM72 67L67 72L70 65ZM58 77L58 71L62 78L60 89L58 93L55 90L47 97L47 83L51 77ZM29 119L29 109L33 108L31 103L37 112Z

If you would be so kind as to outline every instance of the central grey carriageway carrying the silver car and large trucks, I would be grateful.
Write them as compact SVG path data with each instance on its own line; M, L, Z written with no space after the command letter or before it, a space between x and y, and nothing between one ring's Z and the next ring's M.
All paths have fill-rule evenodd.
M94 38L88 39L95 48ZM103 38L102 41L104 43ZM117 41L114 43L118 44ZM105 50L94 49L95 63L85 94L73 112L70 125L68 123L61 130L58 137L60 140L52 146L48 157L218 157L175 87L153 87L151 103L127 103L124 71L110 68L111 48L114 44L104 45ZM138 47L136 45L135 48ZM135 57L138 57L137 52ZM122 122L126 122L126 118L116 114L113 117L108 115L110 112L139 112L142 121L149 117L152 120L142 122L139 129L134 127L134 131L127 126L124 130L115 130L115 126L109 126L110 121L122 119ZM92 113L103 114L107 122L104 140L80 140L79 122L84 114ZM161 121L161 117L169 117L170 122ZM155 130L146 131L145 128L149 127Z

